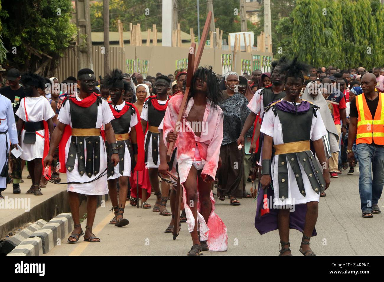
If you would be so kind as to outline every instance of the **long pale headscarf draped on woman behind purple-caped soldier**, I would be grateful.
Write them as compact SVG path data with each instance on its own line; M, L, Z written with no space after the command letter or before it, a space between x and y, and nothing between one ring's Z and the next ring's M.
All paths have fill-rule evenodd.
M313 85L311 86L311 84ZM311 96L309 92L310 88L314 89L314 91L317 91L318 94L315 98ZM334 124L331 112L329 111L328 103L327 101L325 101L323 95L321 94L320 88L318 87L318 84L316 81L311 81L310 83L307 84L307 87L304 90L302 99L312 102L316 106L320 107L319 111L321 114L321 118L323 119L323 122L327 131L336 135L336 139L339 140L339 134Z

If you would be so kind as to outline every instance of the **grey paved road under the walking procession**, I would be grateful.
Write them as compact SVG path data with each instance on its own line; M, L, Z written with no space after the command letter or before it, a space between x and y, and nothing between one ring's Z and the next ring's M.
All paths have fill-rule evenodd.
M384 255L384 213L374 218L363 219L359 208L358 168L354 175L343 171L340 178L332 178L327 196L320 198L319 218L316 224L318 236L311 239L311 247L317 255ZM247 185L249 191L250 184ZM149 199L154 204L152 194ZM384 211L384 197L379 201ZM223 219L228 231L227 252L204 252L204 256L277 255L278 231L261 236L253 223L256 203L253 199L241 200L241 206L230 206L229 200L217 201L217 214ZM192 246L186 223L182 223L180 235L175 241L164 233L170 216L160 216L151 209L136 209L129 204L124 214L130 223L117 228L109 225L113 214L107 202L98 208L93 232L101 239L99 243L83 242L55 248L47 255L185 255ZM82 224L85 230L85 222ZM301 233L291 230L293 255L300 255ZM238 244L236 244L236 242Z

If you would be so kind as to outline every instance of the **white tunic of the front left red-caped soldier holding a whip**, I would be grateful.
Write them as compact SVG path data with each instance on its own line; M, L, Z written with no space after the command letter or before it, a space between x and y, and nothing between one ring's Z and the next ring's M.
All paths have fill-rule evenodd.
M76 99L78 101L81 101L79 98L78 94L75 93ZM96 120L96 126L95 128L101 128L104 124L108 124L111 122L111 120L114 119L114 116L112 114L111 109L109 108L108 102L102 99L101 104L98 105L98 117ZM60 113L58 116L58 120L60 120L61 123L63 124L69 124L72 127L72 121L71 121L71 115L70 115L70 103L66 102L64 106L61 107ZM78 170L78 160L77 156L75 157L75 163L74 163L74 168L73 171L68 171L67 169L67 181L72 182L72 181L90 181L94 180L96 177L101 175L102 173L105 173L104 170L107 167L107 153L105 150L105 144L103 138L100 136L100 168L99 168L99 173L97 175L92 174L91 178L86 175L86 173L81 176L79 174ZM68 151L70 148L70 143L71 143L71 137L68 139L68 142L66 143L65 146L65 159L68 158ZM84 157L87 158L87 150L86 150L86 144L84 142ZM105 174L98 180L95 180L91 183L86 183L86 184L68 184L67 191L69 192L76 192L84 195L105 195L108 194L108 186L107 186L107 175Z

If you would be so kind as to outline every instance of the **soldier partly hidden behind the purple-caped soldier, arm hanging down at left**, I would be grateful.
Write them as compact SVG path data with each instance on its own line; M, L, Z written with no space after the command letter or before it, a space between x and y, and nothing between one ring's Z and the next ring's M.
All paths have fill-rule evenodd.
M244 146L244 136L248 132L248 130L255 124L255 120L257 115L259 115L260 119L263 118L264 109L268 104L278 99L281 99L285 96L286 92L284 90L284 78L285 74L281 72L281 64L286 63L286 58L282 57L280 60L276 60L272 62L271 68L271 81L272 84L270 86L263 87L258 89L253 95L252 100L248 104L248 108L251 109L247 119L245 120L242 132L240 133L240 137L237 139L237 145L242 144ZM260 120L261 122L261 120ZM256 149L256 141L259 139L260 135L260 122L255 124L255 133L253 136L253 142L250 146L250 152L254 152ZM260 158L260 148L261 142L259 141L259 150L256 156L256 160Z

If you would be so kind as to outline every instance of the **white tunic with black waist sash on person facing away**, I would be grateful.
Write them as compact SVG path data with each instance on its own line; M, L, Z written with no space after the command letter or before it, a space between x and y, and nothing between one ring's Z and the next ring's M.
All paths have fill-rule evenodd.
M26 112L26 113L25 113ZM47 121L55 116L50 102L44 97L25 97L20 101L20 107L16 111L16 115L24 122ZM28 116L28 119L27 119ZM35 158L43 158L44 153L44 129L36 131L35 144L23 143L25 130L22 130L21 145L23 153L20 156L22 160L31 161Z

